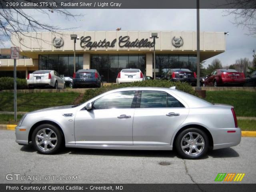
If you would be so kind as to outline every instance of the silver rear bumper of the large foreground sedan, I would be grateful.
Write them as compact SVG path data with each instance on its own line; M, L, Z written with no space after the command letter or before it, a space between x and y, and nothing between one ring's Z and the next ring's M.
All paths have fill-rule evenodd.
M228 133L235 130L234 133ZM221 149L236 146L241 141L240 128L216 128L210 130L213 138L213 149Z

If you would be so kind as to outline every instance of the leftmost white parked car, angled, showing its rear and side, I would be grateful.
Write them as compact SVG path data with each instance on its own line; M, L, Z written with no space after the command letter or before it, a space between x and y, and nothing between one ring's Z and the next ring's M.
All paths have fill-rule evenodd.
M56 89L66 88L65 81L54 70L39 70L28 74L27 85L28 88L46 86Z

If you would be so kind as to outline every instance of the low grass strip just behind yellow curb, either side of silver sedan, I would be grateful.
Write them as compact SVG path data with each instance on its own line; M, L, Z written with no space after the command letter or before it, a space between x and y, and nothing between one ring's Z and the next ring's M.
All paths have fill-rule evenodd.
M19 121L22 115L17 115ZM18 124L14 121L14 115L0 114L0 124ZM243 131L256 131L256 120L238 120L238 126Z

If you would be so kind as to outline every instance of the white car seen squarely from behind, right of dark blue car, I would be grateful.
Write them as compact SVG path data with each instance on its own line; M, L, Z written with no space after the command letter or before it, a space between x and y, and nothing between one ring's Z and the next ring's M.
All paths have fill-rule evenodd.
M135 81L143 81L143 73L139 69L122 69L116 78L116 83L131 83Z

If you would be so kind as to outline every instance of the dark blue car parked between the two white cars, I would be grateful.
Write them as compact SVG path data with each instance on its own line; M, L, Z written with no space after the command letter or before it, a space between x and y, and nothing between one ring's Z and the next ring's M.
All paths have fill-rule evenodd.
M80 69L73 76L74 88L78 86L101 87L102 77L96 69Z

